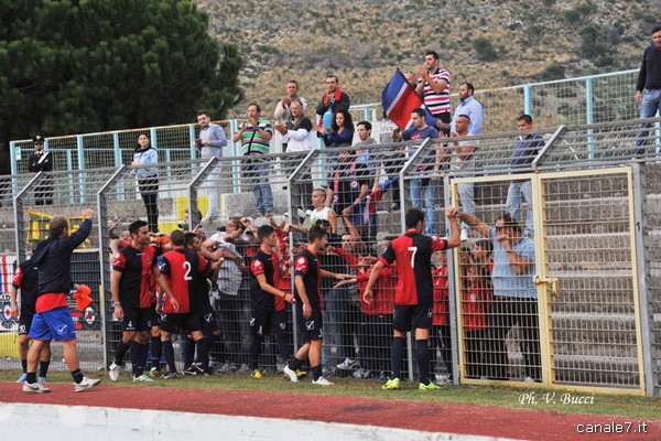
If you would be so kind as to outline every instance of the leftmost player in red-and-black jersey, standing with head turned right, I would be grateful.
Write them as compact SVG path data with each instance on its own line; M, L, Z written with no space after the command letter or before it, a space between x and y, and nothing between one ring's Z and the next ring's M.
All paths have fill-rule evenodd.
M178 309L170 287L161 277L155 250L150 247L149 227L144 220L129 225L131 244L112 256L112 306L115 318L121 321L122 338L115 348L115 361L108 368L112 381L119 379L126 353L130 352L133 381L153 381L144 374L147 365L151 309L150 275L167 294L173 309ZM133 344L131 345L131 342Z

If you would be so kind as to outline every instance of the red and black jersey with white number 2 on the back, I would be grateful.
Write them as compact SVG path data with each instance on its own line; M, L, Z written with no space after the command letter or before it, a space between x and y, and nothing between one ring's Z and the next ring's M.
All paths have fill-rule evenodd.
M208 303L206 278L210 276L210 263L201 255L189 249L177 248L163 255L161 272L167 276L172 294L180 308L172 308L170 298L165 297L163 313L185 314L199 311L203 301Z

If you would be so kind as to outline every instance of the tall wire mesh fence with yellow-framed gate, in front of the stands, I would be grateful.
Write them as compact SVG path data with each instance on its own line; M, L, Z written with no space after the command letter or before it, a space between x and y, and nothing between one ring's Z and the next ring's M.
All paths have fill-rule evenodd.
M281 249L286 260L300 247L299 230L308 228L312 219L328 216L323 203L315 200L319 206L313 207L312 190L322 189L327 197L330 193L332 197L337 195L337 226L333 222L330 225L336 228L332 238L339 256L329 254L324 259L328 259L328 269L355 272L357 280L343 287L323 287L329 306L324 318L327 344L323 363L327 374L382 378L389 369L392 320L387 310L397 279L389 275L378 287L383 293L382 310L366 309L359 293L371 263L366 256L376 257L387 240L402 233L403 211L421 207L427 215L427 233L437 235L447 233L443 207L448 205L472 211L488 226L494 226L503 211L511 212L522 229L531 218L528 236L533 252L529 256L534 260L534 271L527 273L524 286L529 289L532 279L535 297L530 299L537 300L501 300L498 290L502 286L498 283L503 281L497 282L495 277L503 277L497 267L502 261L496 259L502 250L494 240L480 240L475 226L465 227L468 237L459 249L435 256L435 327L431 341L435 378L475 384L539 381L550 387L658 395L659 228L654 219L659 209L655 183L661 173L654 164L659 142L655 132L642 135L641 126L658 122L632 120L541 130L544 147L529 152L523 157L528 161L518 166L511 164L518 132L371 144L369 150L354 146L344 151L270 154L257 164L253 158L243 157L161 163L156 225L163 232L172 230L185 222L187 208L189 227L199 222L210 237L221 225L218 218L207 216L212 202L217 202L220 218L239 215L239 223L251 223L249 229L253 230L268 220L257 215L251 220L240 218L256 214L256 190L268 185L278 226L282 220L294 225L281 235L282 243L289 245L289 249ZM458 164L457 149L467 146L478 149L470 161ZM14 247L21 259L28 244L43 234L47 216L74 217L86 204L97 204L102 225L95 230L90 246L101 250L97 255L104 275L98 295L106 301L99 302L91 315L106 319L100 322L105 326L105 351L104 355L91 352L84 357L86 368L107 363L117 341L117 323L108 315L107 222L133 219L147 213L132 173L138 171L122 166L42 173L23 184L14 201ZM24 178L12 176L12 182L21 180ZM512 202L508 203L511 181L531 183L531 202L523 197L522 185L516 189L521 196L516 211ZM50 183L53 204L39 206L36 214L29 213L26 208L36 206L36 200L45 193L44 185ZM472 192L464 184L474 184ZM69 192L72 185L77 190L75 195ZM315 197L321 194L315 193ZM355 228L349 228L348 222ZM42 233L33 237L32 232ZM246 235L239 251L245 267L254 249L250 236ZM218 244L212 241L209 246ZM489 266L484 252L489 251L487 244L494 249L491 280L484 272ZM89 261L82 265L94 271ZM223 337L216 338L213 352L223 372L245 369L249 362L249 278L242 270L236 295L220 294L216 303L220 323L227 326L221 330ZM523 278L505 277L509 277L506 287ZM290 320L290 344L295 346L295 315ZM83 341L87 338L91 337L82 335ZM98 341L90 341L98 346ZM410 378L416 373L412 343L403 369ZM260 365L273 372L280 367L282 361L272 344L264 354ZM4 366L17 363L13 358Z

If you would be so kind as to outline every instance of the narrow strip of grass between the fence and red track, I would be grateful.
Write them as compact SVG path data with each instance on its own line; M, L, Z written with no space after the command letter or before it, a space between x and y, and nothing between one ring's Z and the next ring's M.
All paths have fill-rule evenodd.
M100 376L100 373L89 373L90 377ZM20 376L18 370L0 370L0 381L15 381ZM629 417L638 419L660 419L661 399L635 397L626 395L605 395L576 392L563 389L544 388L517 388L506 386L443 386L435 392L421 392L418 390L418 384L403 381L402 390L384 391L381 390L381 381L357 380L354 378L337 378L335 386L319 388L313 386L308 378L302 379L297 384L292 384L280 375L264 375L257 380L250 378L248 374L230 374L221 376L185 377L174 380L156 379L153 384L138 384L130 379L128 372L122 372L120 380L112 383L107 375L102 376L105 385L119 385L130 387L183 387L199 389L225 389L225 390L260 390L273 392L297 392L315 395L346 395L351 397L381 398L381 399L403 399L416 401L432 401L443 404L462 404L478 406L497 406L505 408L518 408L529 410L548 410L566 413L587 413L614 417ZM48 373L48 379L53 383L71 383L71 376L64 372ZM563 405L561 396L571 394L573 397L593 397L594 404L584 405ZM544 397L544 394L549 394ZM555 394L553 396L553 394ZM531 395L534 397L534 404L522 397ZM552 400L555 400L555 404ZM549 402L546 402L549 401Z

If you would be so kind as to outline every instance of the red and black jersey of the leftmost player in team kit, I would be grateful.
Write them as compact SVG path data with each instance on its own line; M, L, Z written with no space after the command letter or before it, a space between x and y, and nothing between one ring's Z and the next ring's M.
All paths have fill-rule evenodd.
M123 308L151 305L150 281L156 256L153 247L141 250L128 245L112 256L112 269L121 272L119 301Z

